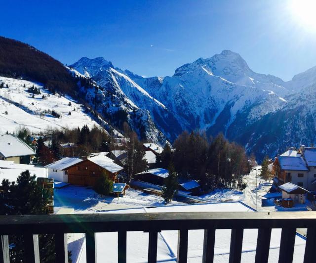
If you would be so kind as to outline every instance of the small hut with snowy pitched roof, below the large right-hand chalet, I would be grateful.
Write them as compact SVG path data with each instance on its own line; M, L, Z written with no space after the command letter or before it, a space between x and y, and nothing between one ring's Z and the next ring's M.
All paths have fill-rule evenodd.
M282 191L282 206L292 207L294 204L305 204L305 195L308 190L294 183L287 182L278 187Z

